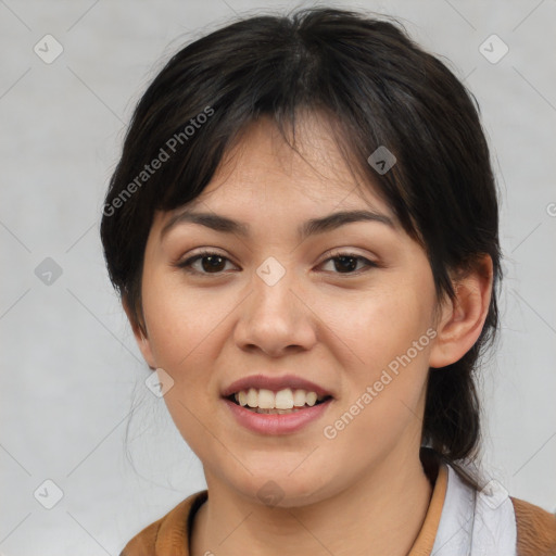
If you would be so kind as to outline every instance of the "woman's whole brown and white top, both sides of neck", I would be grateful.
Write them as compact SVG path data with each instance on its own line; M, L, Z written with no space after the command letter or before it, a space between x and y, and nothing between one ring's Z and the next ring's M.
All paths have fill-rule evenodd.
M556 516L514 498L496 481L481 491L441 463L421 530L408 556L556 556ZM191 494L146 527L121 556L190 556L197 510L206 490Z

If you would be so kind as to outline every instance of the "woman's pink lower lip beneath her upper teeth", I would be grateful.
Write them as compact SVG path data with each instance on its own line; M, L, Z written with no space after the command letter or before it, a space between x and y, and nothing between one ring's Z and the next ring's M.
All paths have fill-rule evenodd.
M309 422L321 417L328 409L332 399L321 404L314 405L313 407L283 414L255 413L227 399L224 399L224 402L229 407L236 420L247 429L261 434L288 434L301 430Z

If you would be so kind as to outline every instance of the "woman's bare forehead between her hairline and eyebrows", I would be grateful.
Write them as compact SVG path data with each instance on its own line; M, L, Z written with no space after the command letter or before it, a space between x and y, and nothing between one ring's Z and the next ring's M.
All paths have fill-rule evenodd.
M288 136L291 142L291 134ZM340 152L331 124L306 114L295 122L293 144L268 117L242 130L223 157L211 182L188 204L235 207L248 214L254 207L288 214L316 205L321 210L370 208L389 214L376 184L363 179Z

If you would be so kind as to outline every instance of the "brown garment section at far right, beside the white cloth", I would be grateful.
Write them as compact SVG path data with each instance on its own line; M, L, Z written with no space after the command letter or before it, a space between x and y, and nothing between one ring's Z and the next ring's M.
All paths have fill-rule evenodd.
M556 556L556 516L523 500L509 498L516 514L518 556Z

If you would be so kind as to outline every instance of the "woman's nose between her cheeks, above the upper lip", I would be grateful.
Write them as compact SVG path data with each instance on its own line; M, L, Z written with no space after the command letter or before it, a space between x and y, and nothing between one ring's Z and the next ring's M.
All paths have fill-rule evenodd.
M278 282L269 285L253 274L253 291L240 305L233 331L240 349L280 357L311 350L315 344L315 317L304 303L293 275L288 270Z

